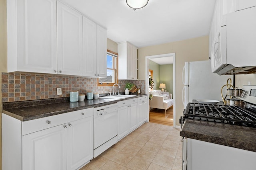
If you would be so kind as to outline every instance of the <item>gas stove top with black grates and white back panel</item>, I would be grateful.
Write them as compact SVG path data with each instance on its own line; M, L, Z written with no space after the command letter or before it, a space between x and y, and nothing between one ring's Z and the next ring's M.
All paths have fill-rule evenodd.
M188 103L180 123L193 119L256 128L256 85L243 86L240 99L239 106Z

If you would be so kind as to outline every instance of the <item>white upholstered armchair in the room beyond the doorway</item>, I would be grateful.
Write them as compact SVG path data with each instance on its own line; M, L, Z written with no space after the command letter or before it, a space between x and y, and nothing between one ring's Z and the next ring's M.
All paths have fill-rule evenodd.
M149 94L152 94L153 96L152 99L149 100L150 107L164 109L166 116L166 110L173 106L172 94L162 94L161 90L152 90L149 92ZM168 95L169 98L166 95Z

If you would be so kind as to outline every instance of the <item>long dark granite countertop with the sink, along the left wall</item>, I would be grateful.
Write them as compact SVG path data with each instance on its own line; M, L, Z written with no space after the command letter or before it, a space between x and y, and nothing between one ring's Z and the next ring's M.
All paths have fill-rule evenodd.
M7 115L10 115L21 121L28 121L38 119L42 117L48 117L52 115L58 115L61 113L67 113L70 111L76 111L86 109L90 107L105 106L108 104L114 104L118 101L128 100L132 98L138 98L141 96L147 96L148 94L140 94L136 97L126 99L93 99L84 100L79 102L69 102L69 98L55 98L44 100L31 100L24 102L7 102L3 103L3 111Z

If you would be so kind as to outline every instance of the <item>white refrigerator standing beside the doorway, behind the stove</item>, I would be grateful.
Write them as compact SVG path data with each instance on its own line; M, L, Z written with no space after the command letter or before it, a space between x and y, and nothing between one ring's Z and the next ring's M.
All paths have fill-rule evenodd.
M210 99L222 101L220 90L223 85L227 84L228 78L232 79L233 85L233 75L220 76L212 73L210 60L185 62L182 72L184 84L182 102L184 109L192 100ZM226 95L224 90L223 94Z

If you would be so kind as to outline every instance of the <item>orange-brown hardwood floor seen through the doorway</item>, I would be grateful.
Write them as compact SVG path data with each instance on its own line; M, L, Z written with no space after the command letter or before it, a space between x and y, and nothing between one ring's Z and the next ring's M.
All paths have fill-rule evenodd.
M149 122L173 126L173 107L166 110L166 117L164 109L150 109Z

